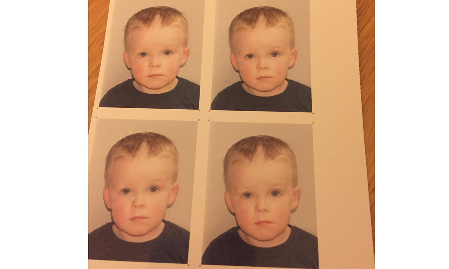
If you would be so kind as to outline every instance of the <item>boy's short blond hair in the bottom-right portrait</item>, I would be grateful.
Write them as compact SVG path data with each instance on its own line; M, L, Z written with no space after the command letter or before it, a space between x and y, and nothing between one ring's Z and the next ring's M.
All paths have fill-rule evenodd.
M287 143L281 139L269 135L257 135L239 140L228 149L228 152L226 152L225 158L223 159L223 179L225 181L226 190L229 191L228 173L229 166L232 165L230 161L233 156L238 154L243 156L247 161L252 161L259 147L264 150L265 161L274 160L280 155L288 157L291 169L293 170L292 184L293 187L296 187L298 185L298 172L296 168L295 153L293 153Z

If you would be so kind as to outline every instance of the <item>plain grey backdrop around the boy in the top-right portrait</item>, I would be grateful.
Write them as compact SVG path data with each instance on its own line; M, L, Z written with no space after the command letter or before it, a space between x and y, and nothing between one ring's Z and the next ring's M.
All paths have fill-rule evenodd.
M240 81L229 60L228 28L232 19L245 9L272 6L286 12L295 25L295 48L298 56L287 78L311 87L310 78L310 17L309 0L216 0L214 64L212 70L212 96Z

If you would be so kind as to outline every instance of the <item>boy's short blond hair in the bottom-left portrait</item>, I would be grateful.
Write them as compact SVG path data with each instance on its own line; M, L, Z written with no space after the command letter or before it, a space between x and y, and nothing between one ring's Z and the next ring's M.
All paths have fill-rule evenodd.
M123 154L127 154L132 158L136 157L137 152L144 144L148 147L148 157L154 157L162 152L167 152L172 156L173 161L173 173L172 182L176 182L178 177L178 151L172 140L166 136L157 133L145 132L130 134L122 139L110 148L108 155L106 156L105 165L105 186L109 186L109 169L114 160Z

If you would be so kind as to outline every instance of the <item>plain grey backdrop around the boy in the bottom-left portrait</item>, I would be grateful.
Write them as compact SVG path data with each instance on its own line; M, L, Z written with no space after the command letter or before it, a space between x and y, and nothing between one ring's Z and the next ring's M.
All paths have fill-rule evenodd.
M164 219L190 230L197 125L197 121L97 119L89 163L88 232L112 221L102 193L107 153L123 137L140 132L163 134L178 150L179 191L175 203L167 208Z

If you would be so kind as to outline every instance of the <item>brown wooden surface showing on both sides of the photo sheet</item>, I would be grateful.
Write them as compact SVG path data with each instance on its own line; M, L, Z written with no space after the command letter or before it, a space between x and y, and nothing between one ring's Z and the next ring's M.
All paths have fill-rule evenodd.
M374 245L374 0L357 0L357 31L365 156ZM89 0L88 126L100 72L109 0Z

